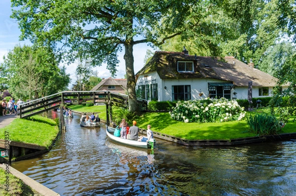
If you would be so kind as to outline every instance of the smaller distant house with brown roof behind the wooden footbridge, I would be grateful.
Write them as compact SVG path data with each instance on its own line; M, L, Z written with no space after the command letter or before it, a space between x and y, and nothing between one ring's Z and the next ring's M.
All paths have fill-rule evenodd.
M122 94L126 93L126 79L107 78L98 83L91 90L108 90Z

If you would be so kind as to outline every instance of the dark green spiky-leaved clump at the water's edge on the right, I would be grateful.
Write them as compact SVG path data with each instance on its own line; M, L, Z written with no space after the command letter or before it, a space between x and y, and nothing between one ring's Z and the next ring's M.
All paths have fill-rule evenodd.
M246 121L249 131L257 136L276 134L281 128L279 120L268 114L247 115Z

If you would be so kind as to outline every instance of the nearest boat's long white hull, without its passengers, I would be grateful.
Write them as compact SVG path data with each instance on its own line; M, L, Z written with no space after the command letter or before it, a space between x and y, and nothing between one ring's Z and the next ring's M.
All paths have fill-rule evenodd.
M155 139L154 139L154 142L139 142L139 141L136 141L136 140L128 140L128 139L123 139L121 137L116 137L113 135L115 131L115 128L112 128L112 127L109 127L106 125L106 133L108 135L108 137L115 141L115 142L118 142L120 144L125 144L125 145L128 145L128 146L134 146L134 147L139 147L139 148L146 148L146 149L153 149L154 146L155 146Z

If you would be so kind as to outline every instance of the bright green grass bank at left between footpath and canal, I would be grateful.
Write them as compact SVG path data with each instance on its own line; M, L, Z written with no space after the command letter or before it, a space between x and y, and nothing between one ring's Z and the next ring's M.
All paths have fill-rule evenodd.
M9 140L36 144L48 148L56 138L59 127L53 119L34 116L30 119L16 118L9 125L0 128L0 139L4 132L9 133Z

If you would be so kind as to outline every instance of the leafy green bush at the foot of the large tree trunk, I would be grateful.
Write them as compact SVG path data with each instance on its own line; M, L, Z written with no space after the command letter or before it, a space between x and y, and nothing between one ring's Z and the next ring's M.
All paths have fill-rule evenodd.
M116 124L120 124L122 118L125 118L125 121L128 122L129 126L131 126L133 123L132 121L137 118L137 115L133 112L128 111L125 108L117 108L114 107L113 114L112 114L112 120Z

